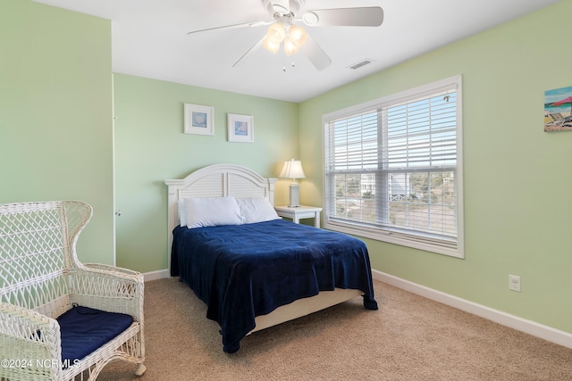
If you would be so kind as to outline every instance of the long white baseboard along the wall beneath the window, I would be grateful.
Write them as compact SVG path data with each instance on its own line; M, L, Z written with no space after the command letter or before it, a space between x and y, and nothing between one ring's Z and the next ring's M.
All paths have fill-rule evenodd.
M552 327L544 326L532 320L522 319L509 313L494 310L482 304L469 302L451 294L445 294L433 288L417 285L400 277L394 277L381 271L372 270L372 276L376 280L387 283L391 286L399 287L413 294L424 296L435 302L442 302L461 311L472 313L484 319L489 319L505 327L511 327L529 335L543 338L551 343L559 344L567 348L572 348L572 334Z

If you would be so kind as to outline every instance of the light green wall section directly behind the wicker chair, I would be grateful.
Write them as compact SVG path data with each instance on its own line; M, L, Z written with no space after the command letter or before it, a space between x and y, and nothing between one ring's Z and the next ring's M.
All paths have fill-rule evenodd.
M109 21L0 0L0 178L0 203L90 203L80 260L114 262Z

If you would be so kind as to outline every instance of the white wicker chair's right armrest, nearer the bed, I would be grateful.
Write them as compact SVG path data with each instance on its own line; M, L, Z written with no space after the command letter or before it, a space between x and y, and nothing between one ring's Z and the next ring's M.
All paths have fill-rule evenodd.
M110 265L88 263L72 269L70 280L71 302L103 311L127 313L142 323L143 274Z

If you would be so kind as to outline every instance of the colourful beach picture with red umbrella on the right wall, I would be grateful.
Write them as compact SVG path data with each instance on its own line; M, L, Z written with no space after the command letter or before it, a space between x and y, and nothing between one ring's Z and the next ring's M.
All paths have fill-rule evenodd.
M544 92L544 132L572 130L572 86Z

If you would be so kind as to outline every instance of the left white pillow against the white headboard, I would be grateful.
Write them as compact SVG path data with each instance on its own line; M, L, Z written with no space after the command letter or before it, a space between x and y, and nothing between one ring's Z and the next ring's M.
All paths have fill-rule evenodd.
M234 197L186 198L188 228L240 225L244 222Z

